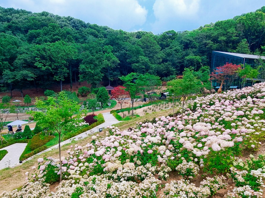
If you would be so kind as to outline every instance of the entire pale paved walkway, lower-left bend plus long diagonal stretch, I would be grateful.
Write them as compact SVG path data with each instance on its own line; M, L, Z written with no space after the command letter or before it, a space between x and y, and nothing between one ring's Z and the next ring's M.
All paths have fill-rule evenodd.
M106 128L107 126L111 126L111 125L114 125L114 124L120 122L112 114L110 114L110 112L103 113L102 115L103 115L104 120L105 120L104 123L96 126L95 128L90 129L89 131L86 131L86 132L81 133L75 137L72 137L71 139L67 139L67 140L61 142L61 146L64 144L72 142L73 139L75 139L75 140L83 139L83 138L87 137L88 135L91 135L93 133L98 132L100 128ZM1 150L7 150L8 153L0 161L0 169L5 168L6 167L5 164L9 160L10 160L10 163L9 163L10 167L14 167L14 166L19 165L19 157L20 157L21 153L24 151L26 145L27 145L27 143L16 143L16 144L12 144L8 147L4 147L3 149L1 149ZM40 153L37 153L36 155L33 155L32 157L24 160L23 162L28 161L28 160L32 159L33 157L40 155L42 153L45 153L47 151L57 149L58 147L59 147L59 144L56 144L56 145L54 145L54 146L52 146L52 147L50 147L50 148L48 148L48 149L46 149Z

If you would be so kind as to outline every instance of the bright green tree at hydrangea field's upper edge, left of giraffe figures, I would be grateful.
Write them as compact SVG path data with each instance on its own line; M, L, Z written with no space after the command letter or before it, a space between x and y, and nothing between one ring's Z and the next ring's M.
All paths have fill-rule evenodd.
M201 83L194 72L190 68L186 68L182 79L175 79L168 82L168 90L173 96L182 96L182 120L184 116L185 98L193 93L198 93L201 88Z

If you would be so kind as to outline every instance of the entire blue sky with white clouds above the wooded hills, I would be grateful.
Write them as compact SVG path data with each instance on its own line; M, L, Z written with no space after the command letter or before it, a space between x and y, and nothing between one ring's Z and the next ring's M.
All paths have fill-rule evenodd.
M72 16L128 32L197 29L253 12L264 0L0 0L1 7Z

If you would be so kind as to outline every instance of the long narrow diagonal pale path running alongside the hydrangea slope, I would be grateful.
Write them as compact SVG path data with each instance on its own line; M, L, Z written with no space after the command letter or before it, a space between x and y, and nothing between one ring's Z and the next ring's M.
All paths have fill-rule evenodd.
M89 131L86 131L86 132L84 132L84 133L80 133L80 134L77 135L77 136L74 136L74 137L72 137L72 138L70 138L70 139L67 139L67 140L61 142L61 146L64 145L64 144L71 143L73 139L75 139L75 140L84 139L84 138L87 137L88 135L91 135L91 134L93 134L93 133L98 132L98 131L99 131L99 128L106 128L107 126L111 126L111 125L114 125L114 124L116 124L116 123L121 122L121 121L118 121L118 120L117 120L112 114L110 114L110 112L102 113L102 115L103 115L104 120L105 120L104 123L102 123L102 124L96 126L95 128L90 129ZM40 153L37 153L36 155L33 155L32 157L30 157L30 158L24 160L23 162L28 161L28 160L32 159L33 157L35 157L35 156L37 156L37 155L40 155L40 154L42 154L42 153L45 153L45 152L47 152L47 151L57 149L58 147L59 147L59 144L56 144L56 145L54 145L54 146L52 146L52 147L50 147L50 148L48 148L48 149L46 149L46 150L44 150L44 151L42 151L42 152L40 152Z

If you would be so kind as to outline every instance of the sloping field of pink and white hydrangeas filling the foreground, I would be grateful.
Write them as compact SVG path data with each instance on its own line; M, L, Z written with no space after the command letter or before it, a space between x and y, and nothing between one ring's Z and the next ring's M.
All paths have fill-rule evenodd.
M265 154L254 155L265 138L264 98L260 83L189 100L176 117L126 131L110 126L104 138L92 136L67 151L55 192L49 186L59 180L59 159L48 157L26 172L21 190L0 197L206 198L226 188L228 179L233 188L226 198L262 197ZM173 173L182 178L172 180Z

